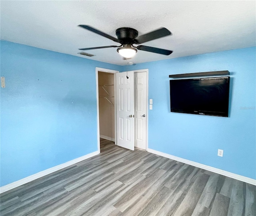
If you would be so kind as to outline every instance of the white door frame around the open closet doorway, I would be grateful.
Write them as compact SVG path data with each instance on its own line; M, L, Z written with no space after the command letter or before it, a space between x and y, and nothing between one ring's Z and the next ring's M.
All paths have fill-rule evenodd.
M100 154L100 111L99 111L99 78L98 72L106 72L116 74L118 70L110 70L106 68L95 68L96 73L96 99L97 99L97 143L98 143L98 154ZM114 99L116 98L116 76L114 75ZM115 144L116 144L116 100L114 100L114 122L115 122Z

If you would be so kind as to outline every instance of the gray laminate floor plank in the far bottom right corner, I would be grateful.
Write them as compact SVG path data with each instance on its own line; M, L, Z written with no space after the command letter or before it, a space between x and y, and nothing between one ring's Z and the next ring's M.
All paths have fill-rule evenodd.
M245 215L256 215L256 186L246 183Z

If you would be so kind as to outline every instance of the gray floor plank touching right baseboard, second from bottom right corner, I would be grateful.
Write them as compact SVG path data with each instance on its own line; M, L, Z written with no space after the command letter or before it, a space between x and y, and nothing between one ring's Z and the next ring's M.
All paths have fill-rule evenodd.
M244 216L245 215L245 192L246 183L234 180L234 187L231 192L228 216Z

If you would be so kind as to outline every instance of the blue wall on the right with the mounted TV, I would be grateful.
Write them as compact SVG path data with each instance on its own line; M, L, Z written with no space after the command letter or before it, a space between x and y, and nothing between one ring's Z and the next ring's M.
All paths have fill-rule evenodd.
M256 179L256 48L124 66L149 69L148 148ZM229 70L229 117L170 112L169 74ZM217 156L224 150L223 157Z

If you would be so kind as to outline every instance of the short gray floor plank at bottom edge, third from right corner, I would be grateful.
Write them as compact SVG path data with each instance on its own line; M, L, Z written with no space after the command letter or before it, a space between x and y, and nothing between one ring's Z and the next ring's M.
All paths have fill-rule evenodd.
M212 205L210 216L226 216L228 214L229 200L229 197L217 193Z

